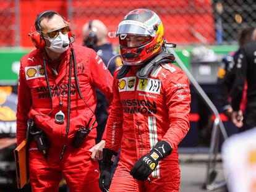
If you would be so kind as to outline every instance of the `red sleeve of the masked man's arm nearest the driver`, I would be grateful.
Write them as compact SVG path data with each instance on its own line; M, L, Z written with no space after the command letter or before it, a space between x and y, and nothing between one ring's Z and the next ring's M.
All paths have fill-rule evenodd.
M102 59L96 54L95 51L92 51L90 57L90 75L92 77L93 85L98 88L103 94L105 94L106 99L108 100L108 112L111 111L111 105L113 101L113 76L106 68L106 65ZM106 130L106 129L105 129ZM106 138L106 131L104 131L102 140Z

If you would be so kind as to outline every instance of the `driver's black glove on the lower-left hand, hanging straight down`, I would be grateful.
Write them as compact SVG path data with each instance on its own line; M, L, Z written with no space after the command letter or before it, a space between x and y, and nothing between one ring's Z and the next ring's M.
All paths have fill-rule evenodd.
M117 152L111 149L103 149L102 169L99 178L100 189L103 192L108 192L111 183L111 165L113 165L116 155Z

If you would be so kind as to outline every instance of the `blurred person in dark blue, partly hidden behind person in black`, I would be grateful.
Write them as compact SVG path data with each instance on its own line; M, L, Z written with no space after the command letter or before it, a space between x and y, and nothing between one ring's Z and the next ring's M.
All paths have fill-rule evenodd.
M231 120L233 109L231 107L231 94L234 86L234 79L236 78L236 65L242 46L249 41L256 38L255 28L244 28L238 36L237 41L239 49L236 52L231 52L228 56L223 57L221 67L218 70L218 85L220 85L220 103L224 114ZM245 83L244 95L241 102L241 110L245 110L246 105L246 90L247 83Z

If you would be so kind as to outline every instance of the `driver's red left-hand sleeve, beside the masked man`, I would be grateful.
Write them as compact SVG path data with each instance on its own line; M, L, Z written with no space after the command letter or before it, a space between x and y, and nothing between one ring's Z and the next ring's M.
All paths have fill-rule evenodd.
M105 148L113 151L118 151L122 141L122 103L119 97L118 80L116 79L117 72L114 73L113 81L113 103L111 113L108 117L106 127L106 144Z

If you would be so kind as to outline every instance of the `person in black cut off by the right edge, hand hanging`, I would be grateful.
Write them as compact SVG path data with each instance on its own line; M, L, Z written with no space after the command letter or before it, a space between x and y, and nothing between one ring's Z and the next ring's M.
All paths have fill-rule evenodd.
M255 33L255 31L254 31ZM244 44L236 63L236 78L232 94L232 121L241 131L256 126L256 40ZM247 82L247 104L245 112L241 111L240 104Z

